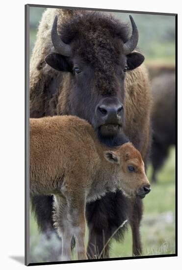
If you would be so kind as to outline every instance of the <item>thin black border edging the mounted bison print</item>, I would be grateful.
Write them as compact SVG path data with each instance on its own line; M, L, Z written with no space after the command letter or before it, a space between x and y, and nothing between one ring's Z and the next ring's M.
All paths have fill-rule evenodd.
M47 263L28 263L29 254L29 7L44 7L44 8L69 8L81 10L96 10L96 11L110 11L122 13L137 13L137 14L151 14L151 15L167 15L175 16L175 75L176 75L176 141L177 147L175 151L175 254L166 255L148 255L139 257L123 257L123 258L108 258L108 259L92 259L92 260L74 260L74 261L60 261ZM26 4L25 5L25 265L56 265L56 264L70 264L81 262L99 262L99 261L118 261L129 259L142 258L163 258L178 256L178 14L177 13L160 13L160 12L145 12L145 11L131 11L131 10L116 10L116 9L101 9L101 8L85 8L85 7L71 7L71 6L56 6L56 5L39 5Z

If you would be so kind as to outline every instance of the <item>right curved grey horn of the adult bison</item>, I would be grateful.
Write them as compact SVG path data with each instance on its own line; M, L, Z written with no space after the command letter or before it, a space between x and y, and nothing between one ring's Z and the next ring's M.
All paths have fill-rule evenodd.
M138 29L135 25L135 22L130 15L130 21L132 26L132 34L130 39L123 45L124 54L130 54L136 47L138 43Z

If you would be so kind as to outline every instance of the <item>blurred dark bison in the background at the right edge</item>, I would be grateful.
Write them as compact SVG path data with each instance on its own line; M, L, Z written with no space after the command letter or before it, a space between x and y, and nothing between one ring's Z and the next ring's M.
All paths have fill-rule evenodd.
M175 145L175 72L163 73L151 82L153 106L153 142L151 162L153 165L152 182L156 183L156 172L165 161L169 146Z

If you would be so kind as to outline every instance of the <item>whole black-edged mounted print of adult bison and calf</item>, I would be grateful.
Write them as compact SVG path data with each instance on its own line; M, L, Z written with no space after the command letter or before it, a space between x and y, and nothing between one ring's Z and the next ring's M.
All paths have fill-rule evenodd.
M177 256L177 14L25 12L26 265Z

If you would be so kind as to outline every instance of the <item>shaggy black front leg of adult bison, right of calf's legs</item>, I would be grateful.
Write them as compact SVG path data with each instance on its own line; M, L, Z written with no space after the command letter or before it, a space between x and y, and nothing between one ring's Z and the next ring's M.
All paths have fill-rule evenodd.
M121 191L109 192L101 200L87 204L86 218L89 228L87 256L89 259L109 257L111 236L127 219L128 209L129 203ZM126 228L125 225L118 230L113 238L121 239Z

